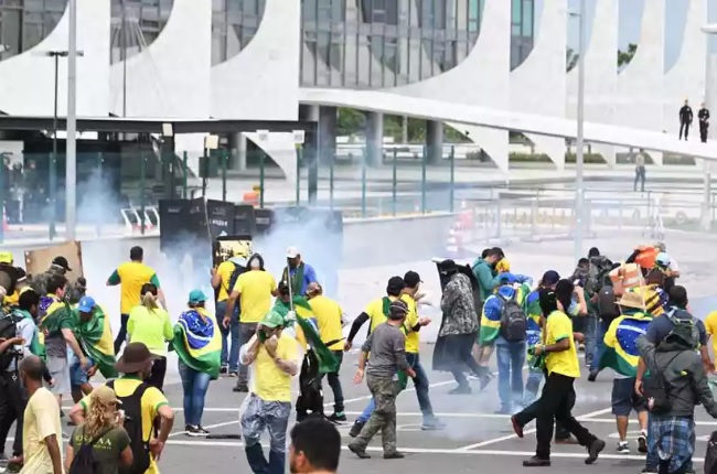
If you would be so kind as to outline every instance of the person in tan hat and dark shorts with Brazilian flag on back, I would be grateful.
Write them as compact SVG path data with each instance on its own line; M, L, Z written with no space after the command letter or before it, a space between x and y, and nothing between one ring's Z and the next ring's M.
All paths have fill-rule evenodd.
M634 390L640 362L635 341L648 333L652 316L646 314L642 297L635 292L625 292L618 305L621 315L610 323L604 335L600 368L610 367L614 371L611 406L620 437L618 453L630 454L628 423L634 410L640 423L638 452L644 454L648 452L648 408L644 398Z

